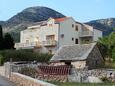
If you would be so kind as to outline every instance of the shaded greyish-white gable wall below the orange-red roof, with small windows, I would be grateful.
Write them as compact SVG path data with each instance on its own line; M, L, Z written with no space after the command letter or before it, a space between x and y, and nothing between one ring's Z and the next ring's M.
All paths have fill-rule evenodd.
M72 27L72 24L74 24L74 27ZM79 38L78 31L75 30L75 26L76 26L76 22L72 18L69 18L65 20L64 22L60 23L59 46L75 44L75 39ZM63 38L61 38L62 34L64 34ZM72 41L72 38L74 38L73 41Z

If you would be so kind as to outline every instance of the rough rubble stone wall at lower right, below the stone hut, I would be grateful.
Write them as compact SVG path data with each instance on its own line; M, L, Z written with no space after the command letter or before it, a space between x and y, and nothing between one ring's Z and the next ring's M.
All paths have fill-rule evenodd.
M88 77L97 77L99 79L106 77L108 80L115 82L114 69L92 69L81 70L72 68L71 74L68 76L70 82L90 82Z

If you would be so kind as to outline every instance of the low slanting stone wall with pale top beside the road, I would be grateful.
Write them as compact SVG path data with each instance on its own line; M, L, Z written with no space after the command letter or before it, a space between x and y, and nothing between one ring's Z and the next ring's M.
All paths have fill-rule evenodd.
M17 86L56 86L44 81L33 79L29 76L25 76L19 73L12 73L10 81L17 84Z

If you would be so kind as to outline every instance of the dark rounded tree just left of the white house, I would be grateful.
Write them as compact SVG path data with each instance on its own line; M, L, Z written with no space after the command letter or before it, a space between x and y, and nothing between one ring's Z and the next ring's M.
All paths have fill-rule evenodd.
M14 49L14 40L9 33L6 33L3 39L4 49Z

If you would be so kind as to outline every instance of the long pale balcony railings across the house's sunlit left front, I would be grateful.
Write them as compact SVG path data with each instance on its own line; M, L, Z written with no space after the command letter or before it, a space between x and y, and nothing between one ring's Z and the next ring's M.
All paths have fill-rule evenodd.
M25 49L25 48L34 48L34 47L41 47L41 46L55 46L57 42L55 40L50 41L42 41L42 42L30 42L30 43L15 43L16 49Z

